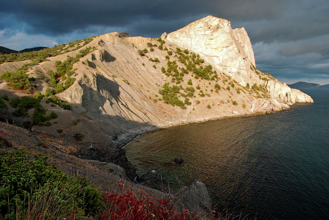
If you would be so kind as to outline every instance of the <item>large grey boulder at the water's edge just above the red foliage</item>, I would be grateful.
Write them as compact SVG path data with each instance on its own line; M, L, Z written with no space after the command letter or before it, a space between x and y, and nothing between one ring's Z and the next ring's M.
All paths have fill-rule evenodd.
M199 212L211 210L211 199L208 190L201 181L194 181L190 186L179 189L174 194L174 203L178 208L187 207Z

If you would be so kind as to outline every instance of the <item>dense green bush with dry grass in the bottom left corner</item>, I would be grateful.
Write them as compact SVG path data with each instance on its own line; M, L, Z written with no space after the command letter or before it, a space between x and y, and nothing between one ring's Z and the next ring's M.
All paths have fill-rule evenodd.
M65 210L73 208L79 214L96 213L101 204L98 189L86 178L68 177L47 159L23 149L0 152L0 210L4 219L23 219L31 209L37 209L43 219L62 219ZM45 204L38 204L41 200Z

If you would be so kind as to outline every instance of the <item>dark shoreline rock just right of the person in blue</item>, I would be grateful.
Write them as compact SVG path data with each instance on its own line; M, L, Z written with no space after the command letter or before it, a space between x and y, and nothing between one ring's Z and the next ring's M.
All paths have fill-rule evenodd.
M155 170L148 171L146 174L142 175L139 178L139 183L159 191L169 191L168 183L162 179L161 176L158 176L158 173Z

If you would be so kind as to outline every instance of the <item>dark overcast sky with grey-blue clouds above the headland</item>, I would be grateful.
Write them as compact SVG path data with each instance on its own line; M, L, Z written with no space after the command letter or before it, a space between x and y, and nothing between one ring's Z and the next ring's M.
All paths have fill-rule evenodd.
M244 27L256 66L287 84L329 84L328 0L0 0L0 46L52 47L109 32L159 37L216 15Z

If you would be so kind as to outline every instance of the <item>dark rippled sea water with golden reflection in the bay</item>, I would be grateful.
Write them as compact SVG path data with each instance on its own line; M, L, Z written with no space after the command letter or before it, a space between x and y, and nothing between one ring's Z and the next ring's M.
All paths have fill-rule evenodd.
M139 136L125 148L139 175L201 180L214 204L248 218L329 219L329 89L301 89L313 104ZM175 157L182 165L168 166Z

